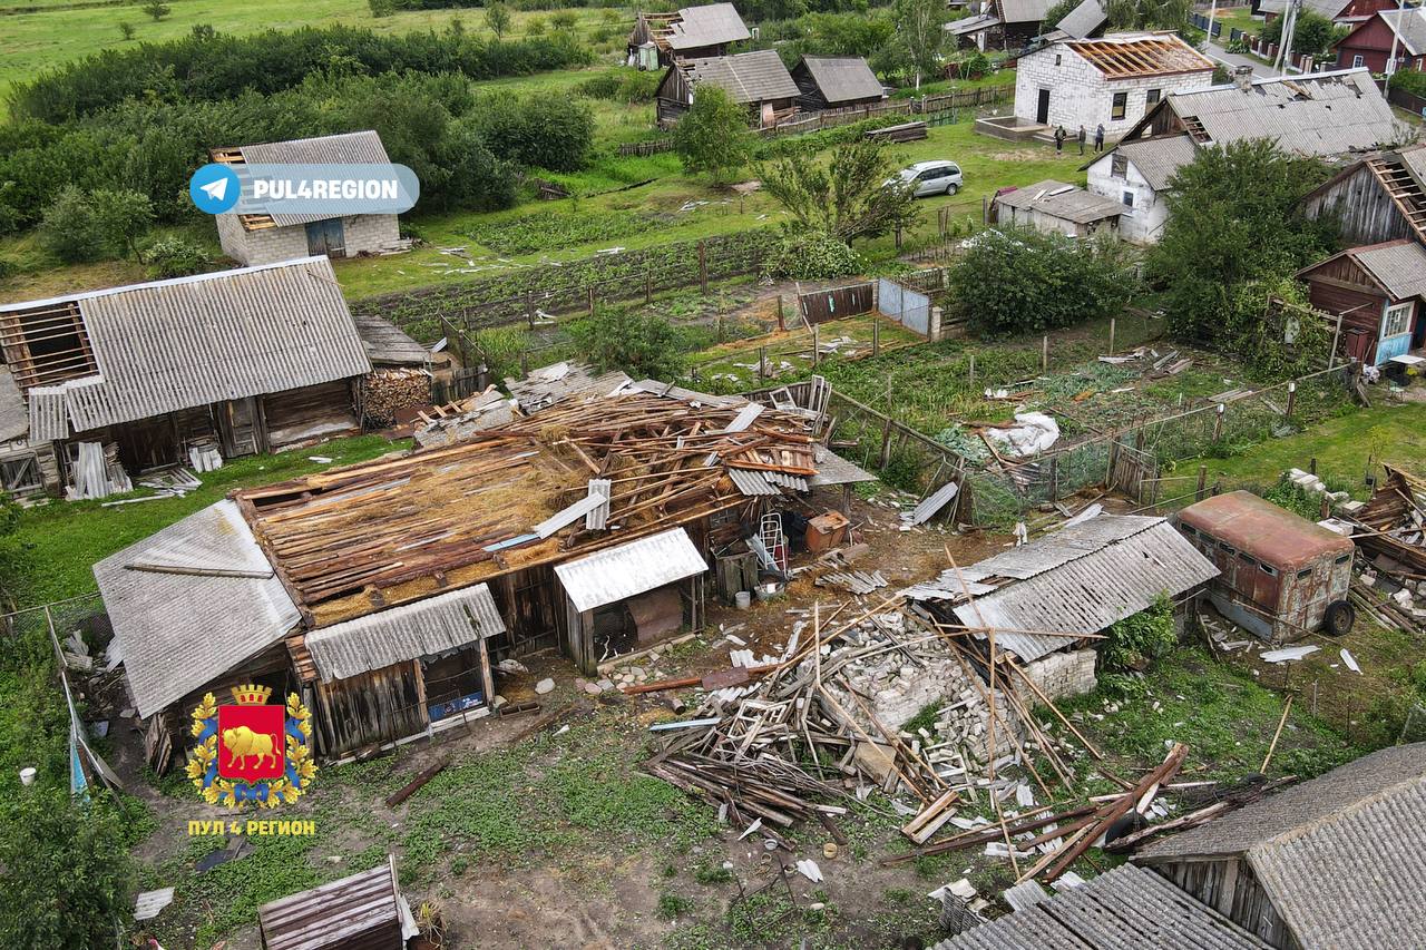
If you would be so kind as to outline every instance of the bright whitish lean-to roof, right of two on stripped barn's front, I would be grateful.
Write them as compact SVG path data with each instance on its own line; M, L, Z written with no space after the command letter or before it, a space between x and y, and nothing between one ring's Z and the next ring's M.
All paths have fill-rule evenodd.
M559 575L565 593L580 613L692 578L707 569L703 555L682 528L662 531L555 565L555 573Z

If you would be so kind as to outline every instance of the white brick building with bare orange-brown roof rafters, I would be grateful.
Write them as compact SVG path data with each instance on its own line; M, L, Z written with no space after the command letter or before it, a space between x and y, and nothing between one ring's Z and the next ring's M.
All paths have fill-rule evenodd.
M1084 126L1118 138L1169 93L1208 88L1214 63L1174 33L1119 33L1058 40L1015 67L1015 116L1055 128L1071 143Z

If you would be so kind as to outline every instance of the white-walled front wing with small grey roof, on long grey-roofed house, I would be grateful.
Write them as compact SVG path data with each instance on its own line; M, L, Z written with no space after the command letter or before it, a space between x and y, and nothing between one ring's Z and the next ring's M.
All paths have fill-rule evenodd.
M1179 167L1194 161L1198 147L1189 136L1122 141L1089 163L1088 188L1124 204L1119 237L1134 244L1156 244L1168 224L1164 190Z

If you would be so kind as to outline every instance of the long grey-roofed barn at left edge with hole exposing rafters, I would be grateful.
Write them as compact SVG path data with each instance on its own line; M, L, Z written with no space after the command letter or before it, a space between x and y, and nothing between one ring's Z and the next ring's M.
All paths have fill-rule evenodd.
M4 488L83 498L361 431L364 394L429 358L355 322L325 257L4 304L0 355Z

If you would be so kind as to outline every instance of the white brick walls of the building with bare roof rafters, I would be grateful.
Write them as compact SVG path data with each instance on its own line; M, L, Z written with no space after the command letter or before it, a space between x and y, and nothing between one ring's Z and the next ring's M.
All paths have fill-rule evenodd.
M1050 127L1064 126L1070 133L1065 147L1075 145L1075 134L1084 126L1089 141L1094 130L1104 124L1105 138L1114 140L1144 118L1148 93L1159 90L1186 93L1212 86L1212 70L1176 76L1109 80L1075 53L1068 44L1052 43L1042 50L1021 57L1015 67L1015 116L1035 121L1040 90L1050 90ZM1125 93L1124 118L1115 120L1114 94Z

